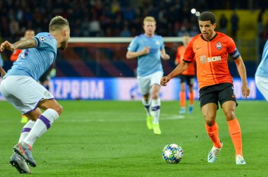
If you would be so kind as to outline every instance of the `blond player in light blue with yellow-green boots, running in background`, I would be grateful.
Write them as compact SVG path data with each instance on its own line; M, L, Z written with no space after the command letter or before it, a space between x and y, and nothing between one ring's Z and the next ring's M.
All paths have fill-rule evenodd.
M160 114L160 80L163 75L161 58L168 60L170 57L164 49L163 38L154 35L156 21L153 17L147 16L143 20L145 34L136 36L129 44L127 59L138 57L137 78L142 104L147 112L147 128L154 130L155 135L160 135L159 114Z

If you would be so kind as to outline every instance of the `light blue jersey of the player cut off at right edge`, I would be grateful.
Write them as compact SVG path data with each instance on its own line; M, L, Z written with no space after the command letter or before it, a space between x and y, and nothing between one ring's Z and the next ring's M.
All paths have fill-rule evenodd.
M260 61L255 75L268 78L268 40L263 48L262 61Z

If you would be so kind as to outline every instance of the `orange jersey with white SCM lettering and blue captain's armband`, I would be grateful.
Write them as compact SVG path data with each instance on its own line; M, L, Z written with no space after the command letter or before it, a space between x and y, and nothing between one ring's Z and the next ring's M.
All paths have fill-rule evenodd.
M240 56L231 37L217 32L207 41L200 34L190 40L183 61L193 62L195 59L197 81L199 88L202 88L219 83L233 83L227 63L228 54L231 54L233 59Z

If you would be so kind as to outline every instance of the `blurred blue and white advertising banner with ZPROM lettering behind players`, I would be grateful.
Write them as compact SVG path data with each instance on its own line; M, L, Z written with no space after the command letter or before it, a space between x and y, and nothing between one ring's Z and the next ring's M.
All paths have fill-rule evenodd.
M0 79L1 83L1 79ZM243 99L240 78L233 78L236 99ZM262 100L264 97L257 90L254 78L248 78L250 96L248 99ZM180 79L173 78L166 87L161 87L162 100L178 100ZM140 100L136 78L54 78L50 82L51 94L56 99L84 100ZM194 84L195 99L198 99L198 84ZM0 93L0 100L4 97Z

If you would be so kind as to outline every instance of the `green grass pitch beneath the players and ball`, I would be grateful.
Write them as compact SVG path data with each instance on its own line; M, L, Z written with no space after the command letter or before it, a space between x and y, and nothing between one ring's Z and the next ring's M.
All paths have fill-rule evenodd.
M178 102L162 102L162 135L147 130L141 102L61 101L63 114L33 146L31 176L268 176L268 103L239 101L236 116L247 164L235 164L235 150L222 110L217 114L224 147L207 163L212 142L195 102L193 114L178 115ZM0 102L0 176L21 176L9 165L23 124L20 113ZM166 164L162 149L181 145L180 164Z

